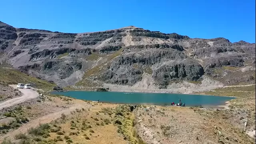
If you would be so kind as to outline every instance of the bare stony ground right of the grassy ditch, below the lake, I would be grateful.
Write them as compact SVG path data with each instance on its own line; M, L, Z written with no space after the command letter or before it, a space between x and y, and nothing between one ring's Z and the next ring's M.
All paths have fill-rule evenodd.
M255 143L241 132L246 113L180 107L142 107L135 127L148 144ZM254 141L254 142L253 142Z

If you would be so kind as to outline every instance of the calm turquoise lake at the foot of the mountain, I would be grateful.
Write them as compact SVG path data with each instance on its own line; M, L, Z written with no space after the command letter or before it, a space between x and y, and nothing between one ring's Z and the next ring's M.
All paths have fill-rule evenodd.
M165 93L139 93L124 94L125 92L91 92L91 91L69 91L69 92L52 92L70 96L82 100L92 100L114 104L153 104L153 105L170 105L171 102L177 104L179 99L186 103L186 106L219 106L224 105L226 101L234 97L225 96L208 96L198 94L165 94Z

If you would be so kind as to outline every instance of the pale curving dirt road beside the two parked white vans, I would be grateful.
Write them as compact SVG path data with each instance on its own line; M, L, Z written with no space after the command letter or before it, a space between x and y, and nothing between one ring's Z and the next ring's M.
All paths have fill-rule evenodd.
M12 86L13 88L16 88L16 85L9 85ZM38 93L32 89L19 89L20 92L22 92L22 96L18 97L18 98L13 98L10 100L7 100L5 102L2 102L0 104L0 110L2 108L6 108L9 106L13 106L14 104L19 104L21 102L24 102L28 99L32 99L32 98L36 98L38 97Z

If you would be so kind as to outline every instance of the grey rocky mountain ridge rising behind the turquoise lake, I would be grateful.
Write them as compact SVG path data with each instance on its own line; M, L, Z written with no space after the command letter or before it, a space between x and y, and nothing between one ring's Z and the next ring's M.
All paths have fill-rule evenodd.
M255 47L242 40L189 38L135 26L75 34L0 22L1 60L59 86L168 88L206 79L253 84Z

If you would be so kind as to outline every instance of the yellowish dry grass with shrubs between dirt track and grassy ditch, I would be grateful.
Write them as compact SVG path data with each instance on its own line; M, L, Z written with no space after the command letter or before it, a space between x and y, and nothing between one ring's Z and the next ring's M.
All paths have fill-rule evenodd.
M113 104L94 105L88 110L76 110L72 114L66 116L64 120L56 120L51 125L59 128L58 133L62 132L63 136L57 132L50 132L51 139L56 144L67 143L72 140L72 143L86 144L126 144L122 136L117 133L117 128L112 124L112 114L104 114L101 110L112 111ZM79 112L78 112L79 111ZM59 140L59 139L62 139Z

